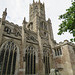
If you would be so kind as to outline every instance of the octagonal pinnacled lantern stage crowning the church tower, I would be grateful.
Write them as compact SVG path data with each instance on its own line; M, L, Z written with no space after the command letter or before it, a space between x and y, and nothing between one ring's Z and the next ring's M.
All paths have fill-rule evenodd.
M35 15L38 14L40 18L45 20L45 7L44 3L42 4L39 0L39 2L35 2L33 0L33 4L30 4L29 9L29 21L34 21Z

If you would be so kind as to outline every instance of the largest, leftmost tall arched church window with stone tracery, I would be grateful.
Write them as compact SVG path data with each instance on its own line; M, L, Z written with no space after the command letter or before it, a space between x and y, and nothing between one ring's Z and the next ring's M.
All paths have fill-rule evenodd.
M14 75L17 57L17 46L14 42L4 43L0 50L0 75Z

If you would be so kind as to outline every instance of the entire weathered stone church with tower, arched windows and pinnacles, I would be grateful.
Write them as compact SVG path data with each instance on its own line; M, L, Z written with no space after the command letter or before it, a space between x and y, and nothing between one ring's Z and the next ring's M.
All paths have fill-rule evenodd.
M53 69L55 75L75 75L75 44L54 40L44 3L33 0L22 26L6 16L7 9L0 18L0 75L51 75Z

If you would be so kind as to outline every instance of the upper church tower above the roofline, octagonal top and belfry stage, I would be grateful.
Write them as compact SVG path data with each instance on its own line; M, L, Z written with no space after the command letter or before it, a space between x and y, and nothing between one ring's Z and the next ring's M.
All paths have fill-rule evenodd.
M55 43L54 37L53 37L53 31L52 31L52 23L51 20L46 20L45 17L45 5L44 3L35 2L33 0L33 3L30 4L29 7L29 25L27 25L27 28L29 27L30 30L37 32L38 29L40 29L40 35L42 33L42 37L47 37L49 34L50 43ZM53 44L54 45L54 44ZM52 46L53 46L52 45Z

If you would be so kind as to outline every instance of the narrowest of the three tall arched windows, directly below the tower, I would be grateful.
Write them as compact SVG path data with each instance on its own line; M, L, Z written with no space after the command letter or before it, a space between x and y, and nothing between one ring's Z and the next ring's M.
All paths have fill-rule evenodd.
M45 65L45 75L50 74L50 57L48 50L43 51L43 61Z

